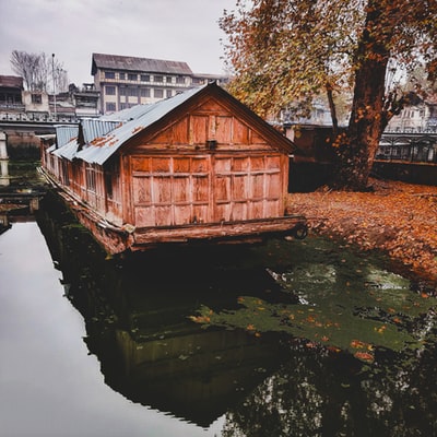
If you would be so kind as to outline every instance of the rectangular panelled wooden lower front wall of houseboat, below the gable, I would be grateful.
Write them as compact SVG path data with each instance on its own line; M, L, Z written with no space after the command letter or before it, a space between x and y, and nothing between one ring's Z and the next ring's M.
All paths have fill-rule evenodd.
M279 154L131 156L132 223L173 226L281 216L281 165Z

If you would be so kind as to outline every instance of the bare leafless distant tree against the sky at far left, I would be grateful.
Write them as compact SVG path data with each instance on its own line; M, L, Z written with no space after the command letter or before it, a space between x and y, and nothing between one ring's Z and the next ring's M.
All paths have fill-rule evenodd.
M54 56L13 50L11 66L12 70L23 78L26 90L47 92L66 90L66 83L68 83L66 71L62 63Z

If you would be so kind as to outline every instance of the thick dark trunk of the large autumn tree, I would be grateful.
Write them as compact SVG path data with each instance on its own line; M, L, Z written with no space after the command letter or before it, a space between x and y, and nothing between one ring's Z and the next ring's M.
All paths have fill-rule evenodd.
M355 88L347 135L339 147L335 185L364 190L383 132L386 70L389 51L387 33L380 31L378 0L369 1L366 27L357 49Z

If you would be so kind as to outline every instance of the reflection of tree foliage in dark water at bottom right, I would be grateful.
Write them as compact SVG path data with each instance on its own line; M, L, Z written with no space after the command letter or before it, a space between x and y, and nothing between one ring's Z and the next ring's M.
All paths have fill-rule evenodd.
M226 416L224 436L436 436L435 346L362 370L296 347Z

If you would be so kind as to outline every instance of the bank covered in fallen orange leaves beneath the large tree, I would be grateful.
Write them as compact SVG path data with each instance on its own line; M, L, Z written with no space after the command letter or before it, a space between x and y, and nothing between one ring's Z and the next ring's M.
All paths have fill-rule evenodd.
M310 232L378 249L414 275L437 284L437 187L370 181L369 192L321 189L290 194L290 211Z

